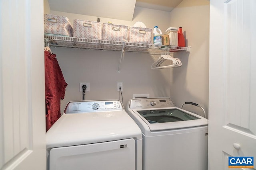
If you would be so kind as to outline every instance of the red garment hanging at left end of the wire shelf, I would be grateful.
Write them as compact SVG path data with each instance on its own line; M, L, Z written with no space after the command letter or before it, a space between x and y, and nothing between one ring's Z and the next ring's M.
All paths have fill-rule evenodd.
M66 86L55 54L44 51L46 131L60 117L60 100L64 99Z

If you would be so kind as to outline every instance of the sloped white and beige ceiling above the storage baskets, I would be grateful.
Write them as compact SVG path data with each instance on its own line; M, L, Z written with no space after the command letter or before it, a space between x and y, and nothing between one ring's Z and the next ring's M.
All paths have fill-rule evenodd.
M50 9L132 21L135 6L172 11L182 0L48 0Z

